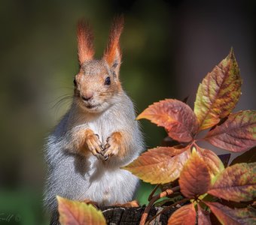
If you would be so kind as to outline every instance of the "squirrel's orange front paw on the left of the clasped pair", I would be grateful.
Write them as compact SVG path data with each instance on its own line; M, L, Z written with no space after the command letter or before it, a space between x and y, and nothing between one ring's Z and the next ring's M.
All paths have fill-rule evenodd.
M90 133L87 135L85 143L94 156L98 159L102 158L102 154L100 154L102 151L102 142L100 142L98 134Z

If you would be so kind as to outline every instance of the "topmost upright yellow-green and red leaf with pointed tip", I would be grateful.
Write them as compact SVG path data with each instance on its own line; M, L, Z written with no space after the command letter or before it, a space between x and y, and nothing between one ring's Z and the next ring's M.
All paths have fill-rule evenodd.
M231 113L241 95L242 80L233 49L213 71L203 79L197 91L194 113L200 130L218 124Z

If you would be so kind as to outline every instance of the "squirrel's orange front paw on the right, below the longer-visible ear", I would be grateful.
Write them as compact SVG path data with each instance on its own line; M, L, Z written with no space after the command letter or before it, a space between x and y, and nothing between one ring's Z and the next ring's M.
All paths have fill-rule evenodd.
M102 155L104 156L104 160L108 160L111 156L116 156L121 148L121 135L120 133L112 133L111 136L108 136L106 140L106 144L104 146L104 150L102 151Z

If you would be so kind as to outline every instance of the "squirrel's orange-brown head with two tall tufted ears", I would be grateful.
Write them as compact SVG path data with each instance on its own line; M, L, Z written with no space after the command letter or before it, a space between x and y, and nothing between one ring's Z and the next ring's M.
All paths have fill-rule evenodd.
M119 80L121 52L120 34L123 17L114 20L108 46L102 59L93 58L93 33L84 20L78 23L78 60L80 70L75 76L75 103L90 113L100 113L116 101L123 92Z

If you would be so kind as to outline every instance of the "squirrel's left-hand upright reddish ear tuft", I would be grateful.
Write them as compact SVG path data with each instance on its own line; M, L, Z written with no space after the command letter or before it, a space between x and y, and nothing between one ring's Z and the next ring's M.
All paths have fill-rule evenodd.
M82 65L86 60L93 59L93 31L86 20L78 21L78 60Z

